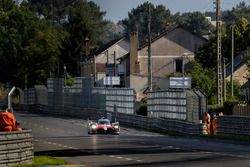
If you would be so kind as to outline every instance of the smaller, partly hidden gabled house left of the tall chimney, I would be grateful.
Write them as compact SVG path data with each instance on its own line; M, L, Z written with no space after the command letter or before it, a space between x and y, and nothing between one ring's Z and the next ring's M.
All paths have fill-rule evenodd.
M81 64L81 76L93 76L96 85L103 86L105 76L115 76L117 59L129 52L129 41L126 38L119 38L110 41L101 47L86 62Z

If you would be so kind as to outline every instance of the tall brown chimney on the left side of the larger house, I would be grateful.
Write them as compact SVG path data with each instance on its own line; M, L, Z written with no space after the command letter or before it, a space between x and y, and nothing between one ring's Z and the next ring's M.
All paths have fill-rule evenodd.
M130 34L130 74L139 73L138 69L138 35L137 32Z

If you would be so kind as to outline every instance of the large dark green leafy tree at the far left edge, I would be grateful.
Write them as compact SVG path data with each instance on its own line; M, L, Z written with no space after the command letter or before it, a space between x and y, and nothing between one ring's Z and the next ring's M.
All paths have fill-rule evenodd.
M45 84L55 75L62 34L11 0L0 11L0 82L24 87L28 76L29 86Z

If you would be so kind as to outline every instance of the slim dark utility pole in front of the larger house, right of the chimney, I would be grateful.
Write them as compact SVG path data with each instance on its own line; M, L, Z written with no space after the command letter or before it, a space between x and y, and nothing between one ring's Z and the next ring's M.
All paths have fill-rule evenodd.
M152 91L152 64L151 64L151 34L150 34L150 24L151 24L151 11L150 4L148 3L148 88Z

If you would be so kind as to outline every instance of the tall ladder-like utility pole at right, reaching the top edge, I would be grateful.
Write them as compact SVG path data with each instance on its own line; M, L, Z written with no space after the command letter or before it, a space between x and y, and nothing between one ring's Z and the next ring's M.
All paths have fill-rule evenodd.
M222 98L222 60L221 60L221 15L220 0L216 0L216 31L217 31L217 104L223 103Z

